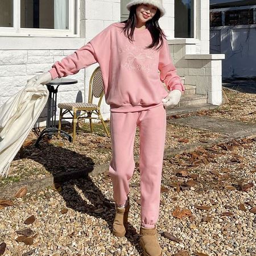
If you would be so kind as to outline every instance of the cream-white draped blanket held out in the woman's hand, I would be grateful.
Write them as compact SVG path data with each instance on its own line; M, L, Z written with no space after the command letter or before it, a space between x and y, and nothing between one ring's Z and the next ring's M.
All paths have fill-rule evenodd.
M35 125L48 100L46 86L25 86L0 108L0 175L6 176L11 161Z

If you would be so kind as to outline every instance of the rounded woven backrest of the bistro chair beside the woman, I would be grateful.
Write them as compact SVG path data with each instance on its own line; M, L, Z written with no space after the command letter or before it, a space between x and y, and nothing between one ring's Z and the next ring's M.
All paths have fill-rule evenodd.
M98 66L94 69L92 76L90 77L90 84L89 84L89 97L88 102L93 102L93 97L100 98L99 104L101 99L104 95L104 84L102 79L101 68Z

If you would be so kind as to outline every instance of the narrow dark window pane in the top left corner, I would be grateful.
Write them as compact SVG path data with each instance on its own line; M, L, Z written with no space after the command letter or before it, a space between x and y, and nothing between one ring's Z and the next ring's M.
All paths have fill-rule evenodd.
M0 27L13 27L13 1L0 0Z

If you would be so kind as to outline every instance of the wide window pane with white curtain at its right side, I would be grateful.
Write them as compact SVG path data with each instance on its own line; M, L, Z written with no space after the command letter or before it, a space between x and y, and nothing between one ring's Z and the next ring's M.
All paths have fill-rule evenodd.
M68 29L68 0L20 0L20 27Z

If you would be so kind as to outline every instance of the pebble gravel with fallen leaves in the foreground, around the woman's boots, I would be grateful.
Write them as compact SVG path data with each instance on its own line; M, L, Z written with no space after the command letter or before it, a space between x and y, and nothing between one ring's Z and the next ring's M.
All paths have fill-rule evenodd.
M243 139L164 159L166 189L158 221L164 255L181 250L188 254L179 255L256 255L255 155L256 140ZM124 238L111 233L114 204L108 173L12 199L13 206L0 208L5 255L142 255L138 183L137 166L131 180L129 232ZM187 209L187 217L177 213L177 207ZM24 224L32 215L35 221ZM17 231L24 229L35 233L18 241L32 245L16 241ZM180 241L168 239L163 232Z

